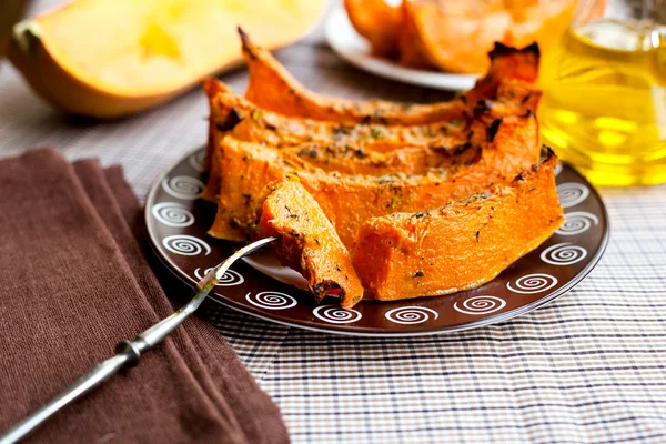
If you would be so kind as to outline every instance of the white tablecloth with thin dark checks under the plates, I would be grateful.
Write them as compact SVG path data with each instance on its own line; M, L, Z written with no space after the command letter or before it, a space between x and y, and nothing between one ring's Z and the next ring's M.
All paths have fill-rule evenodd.
M53 1L40 1L34 11ZM436 101L442 91L374 78L341 61L321 27L279 59L325 93ZM244 70L221 77L238 91ZM194 90L157 110L89 122L39 101L0 62L0 157L54 145L120 163L140 199L205 141ZM222 306L211 320L280 405L295 443L620 443L666 441L666 188L602 189L610 243L555 303L474 331L356 339L270 324Z

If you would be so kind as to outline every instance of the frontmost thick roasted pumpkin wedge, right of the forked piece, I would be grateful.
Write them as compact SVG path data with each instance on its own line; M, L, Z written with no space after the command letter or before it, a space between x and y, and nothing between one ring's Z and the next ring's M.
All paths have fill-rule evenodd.
M564 221L557 200L555 154L494 188L418 213L363 223L353 262L371 297L442 295L491 281Z

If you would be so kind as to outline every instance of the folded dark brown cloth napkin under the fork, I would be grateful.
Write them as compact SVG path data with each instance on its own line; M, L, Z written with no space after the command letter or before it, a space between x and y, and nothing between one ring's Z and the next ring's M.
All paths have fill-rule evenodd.
M0 434L109 357L115 343L172 313L132 234L142 233L141 219L120 168L71 165L53 149L0 161ZM28 441L289 436L233 350L193 317Z

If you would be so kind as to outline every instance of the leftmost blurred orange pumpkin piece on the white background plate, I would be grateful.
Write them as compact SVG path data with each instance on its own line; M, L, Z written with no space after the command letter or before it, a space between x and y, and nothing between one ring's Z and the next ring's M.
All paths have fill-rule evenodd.
M395 54L402 23L400 8L384 0L344 0L344 9L356 32L370 42L373 52Z

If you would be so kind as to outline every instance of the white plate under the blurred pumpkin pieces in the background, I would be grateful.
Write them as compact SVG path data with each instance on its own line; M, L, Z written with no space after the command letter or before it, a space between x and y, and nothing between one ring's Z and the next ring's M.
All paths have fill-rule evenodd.
M468 90L477 75L423 71L372 56L367 41L359 36L342 8L333 10L326 20L326 40L333 50L347 62L373 74L420 87L441 90Z

